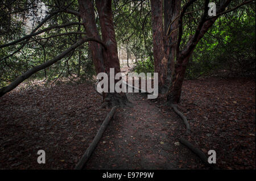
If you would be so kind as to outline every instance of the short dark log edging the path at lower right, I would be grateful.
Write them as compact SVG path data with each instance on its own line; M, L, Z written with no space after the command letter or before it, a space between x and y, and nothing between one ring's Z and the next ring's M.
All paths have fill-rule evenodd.
M193 151L193 153L195 153L204 162L205 165L214 170L218 169L216 166L214 166L214 164L208 163L208 157L204 154L204 152L192 145L191 142L185 140L184 138L179 138L179 141L181 144L187 146L191 151Z

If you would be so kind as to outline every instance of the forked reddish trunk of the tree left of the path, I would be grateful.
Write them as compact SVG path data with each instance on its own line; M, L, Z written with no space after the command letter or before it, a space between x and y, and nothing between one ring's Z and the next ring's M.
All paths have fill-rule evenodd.
M86 34L95 37L96 39L100 39L100 34L96 27L92 1L78 0L78 2ZM96 7L100 18L102 40L106 45L106 49L98 43L92 42L89 44L92 51L93 64L97 74L105 72L110 75L110 68L114 68L114 73L117 74L120 72L120 65L117 52L117 41L115 40L112 1L96 1ZM118 82L118 80L115 80L115 83L116 82ZM127 106L129 104L129 101L123 92L119 94L117 92L103 92L102 95L105 106Z

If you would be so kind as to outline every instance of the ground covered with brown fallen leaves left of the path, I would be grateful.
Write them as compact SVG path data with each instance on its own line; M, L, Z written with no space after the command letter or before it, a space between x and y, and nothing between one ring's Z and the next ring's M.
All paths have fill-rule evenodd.
M73 169L108 114L88 83L12 91L0 99L0 169ZM37 151L46 151L38 164Z

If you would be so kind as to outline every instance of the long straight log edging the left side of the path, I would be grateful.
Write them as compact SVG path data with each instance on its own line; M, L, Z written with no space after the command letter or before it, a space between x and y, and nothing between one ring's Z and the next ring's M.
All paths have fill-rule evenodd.
M75 166L75 170L82 170L84 168L86 162L90 158L90 155L93 153L93 150L96 148L96 145L98 144L98 141L100 141L100 139L102 137L102 134L104 133L106 127L109 124L110 119L112 119L112 117L113 117L113 115L114 115L116 110L117 110L117 106L114 106L112 108L112 110L108 113L108 115L106 116L104 122L101 124L101 127L98 130L96 136L93 138L92 143L90 144L88 149L86 149L84 155L82 155L82 158L80 159L80 161Z

